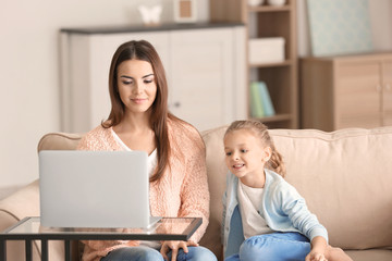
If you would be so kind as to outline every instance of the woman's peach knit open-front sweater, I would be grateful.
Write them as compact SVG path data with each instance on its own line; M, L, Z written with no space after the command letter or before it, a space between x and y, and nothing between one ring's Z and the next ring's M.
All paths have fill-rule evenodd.
M150 184L151 215L203 217L201 226L191 238L197 243L206 231L209 217L205 145L199 133L188 124L169 120L168 128L172 148L171 167L166 170L160 182ZM122 150L111 134L111 129L102 126L86 134L77 149ZM138 245L138 241L126 240L86 240L83 243L85 244L83 261L99 261L117 248Z

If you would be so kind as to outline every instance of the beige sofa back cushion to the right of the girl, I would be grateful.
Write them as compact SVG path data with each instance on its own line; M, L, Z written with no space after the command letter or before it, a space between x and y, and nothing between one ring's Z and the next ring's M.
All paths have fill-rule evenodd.
M270 130L286 181L344 249L392 246L392 127Z

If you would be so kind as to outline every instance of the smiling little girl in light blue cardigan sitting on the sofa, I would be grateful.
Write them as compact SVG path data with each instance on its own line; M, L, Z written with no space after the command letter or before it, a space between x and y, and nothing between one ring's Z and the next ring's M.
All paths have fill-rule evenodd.
M262 123L233 122L224 134L224 151L225 261L352 261L328 245L327 229L283 179L282 157Z

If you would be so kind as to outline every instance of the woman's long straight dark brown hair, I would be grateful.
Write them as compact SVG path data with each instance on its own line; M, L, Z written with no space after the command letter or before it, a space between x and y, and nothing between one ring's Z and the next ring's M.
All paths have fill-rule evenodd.
M142 60L149 62L152 66L155 82L157 85L156 99L151 105L150 124L155 132L155 140L158 152L158 165L150 182L159 181L164 170L169 166L170 140L168 132L168 117L173 120L168 111L168 83L164 74L163 64L151 44L146 40L127 41L122 44L113 54L109 72L109 94L111 100L111 111L106 122L105 128L118 125L124 116L124 104L121 101L118 88L118 67L127 60Z

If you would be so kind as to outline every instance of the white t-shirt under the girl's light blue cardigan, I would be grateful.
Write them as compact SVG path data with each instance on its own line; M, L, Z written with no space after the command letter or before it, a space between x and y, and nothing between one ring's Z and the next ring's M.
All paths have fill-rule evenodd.
M245 239L273 232L267 225L262 212L258 212L258 208L262 202L262 188L248 187L241 181L238 182L240 213Z

